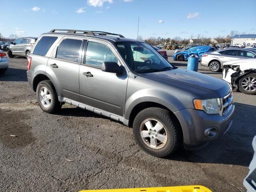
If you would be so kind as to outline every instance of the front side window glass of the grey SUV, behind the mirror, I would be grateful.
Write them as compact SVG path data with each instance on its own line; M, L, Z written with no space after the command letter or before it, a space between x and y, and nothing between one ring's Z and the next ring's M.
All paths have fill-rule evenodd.
M117 63L118 59L108 46L89 41L86 49L85 64L101 67L105 61Z

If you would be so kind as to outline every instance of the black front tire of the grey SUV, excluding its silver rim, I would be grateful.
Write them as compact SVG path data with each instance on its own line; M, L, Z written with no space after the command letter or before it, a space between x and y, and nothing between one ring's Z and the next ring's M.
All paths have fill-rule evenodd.
M141 136L141 125L147 119L154 119L164 126L167 134L167 140L162 148L154 149L148 146ZM153 125L153 124L152 124ZM154 128L152 128L154 129ZM167 157L174 153L180 146L182 134L180 126L175 122L170 111L162 108L146 108L139 112L133 122L133 134L135 141L145 152L156 157ZM166 136L166 135L165 135ZM157 138L157 135L156 135ZM149 138L150 139L150 138ZM158 145L158 144L157 144Z

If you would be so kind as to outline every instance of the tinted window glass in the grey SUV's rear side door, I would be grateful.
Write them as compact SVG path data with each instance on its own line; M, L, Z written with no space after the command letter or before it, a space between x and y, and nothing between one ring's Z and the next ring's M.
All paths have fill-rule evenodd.
M78 63L82 42L79 39L64 39L58 46L56 58Z

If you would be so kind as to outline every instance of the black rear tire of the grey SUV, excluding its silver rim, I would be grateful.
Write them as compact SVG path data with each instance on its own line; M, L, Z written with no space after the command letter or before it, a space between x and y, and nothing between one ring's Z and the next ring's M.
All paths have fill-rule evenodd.
M42 102L40 101L40 89L41 88L46 88L51 96L50 99L50 106L45 107ZM61 103L58 101L58 95L57 92L50 80L43 80L41 81L37 87L36 87L36 98L38 100L38 104L40 108L46 112L46 113L55 113L61 108Z

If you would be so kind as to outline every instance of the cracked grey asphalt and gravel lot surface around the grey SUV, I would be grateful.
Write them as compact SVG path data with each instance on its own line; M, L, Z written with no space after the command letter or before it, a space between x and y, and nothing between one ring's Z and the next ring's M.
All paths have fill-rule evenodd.
M186 67L186 62L169 61ZM221 78L199 66L199 72ZM234 92L230 130L198 151L168 159L144 153L132 129L65 104L58 114L39 108L26 79L26 59L9 58L0 76L0 191L204 185L215 192L245 192L253 156L256 96ZM16 135L12 137L10 135Z

